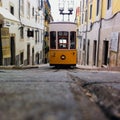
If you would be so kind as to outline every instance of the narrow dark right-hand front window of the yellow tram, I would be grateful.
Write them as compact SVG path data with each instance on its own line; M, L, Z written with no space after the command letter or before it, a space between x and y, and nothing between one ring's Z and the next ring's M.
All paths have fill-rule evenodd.
M76 32L70 32L70 49L76 48Z

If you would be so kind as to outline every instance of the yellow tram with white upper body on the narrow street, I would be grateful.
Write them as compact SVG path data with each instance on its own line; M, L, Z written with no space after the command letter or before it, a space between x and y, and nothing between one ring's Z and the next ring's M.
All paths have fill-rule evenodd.
M50 66L76 66L76 24L52 22L49 26Z

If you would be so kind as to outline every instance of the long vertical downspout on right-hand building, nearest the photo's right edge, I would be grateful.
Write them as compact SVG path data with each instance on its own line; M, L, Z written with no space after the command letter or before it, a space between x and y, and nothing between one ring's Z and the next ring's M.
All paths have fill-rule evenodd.
M101 39L101 27L102 27L102 6L103 0L101 0L101 7L100 7L100 26L98 30L98 50L97 50L97 67L99 66L99 55L100 55L100 39Z

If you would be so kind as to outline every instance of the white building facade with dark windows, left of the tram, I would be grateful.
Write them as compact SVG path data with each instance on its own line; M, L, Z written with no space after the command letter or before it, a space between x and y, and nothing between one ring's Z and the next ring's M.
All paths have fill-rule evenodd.
M34 65L43 61L42 0L0 0L0 65Z

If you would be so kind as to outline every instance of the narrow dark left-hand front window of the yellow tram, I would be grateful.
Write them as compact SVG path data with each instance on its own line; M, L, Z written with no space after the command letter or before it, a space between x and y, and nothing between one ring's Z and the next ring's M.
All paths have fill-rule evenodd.
M56 32L50 32L50 48L56 49Z

